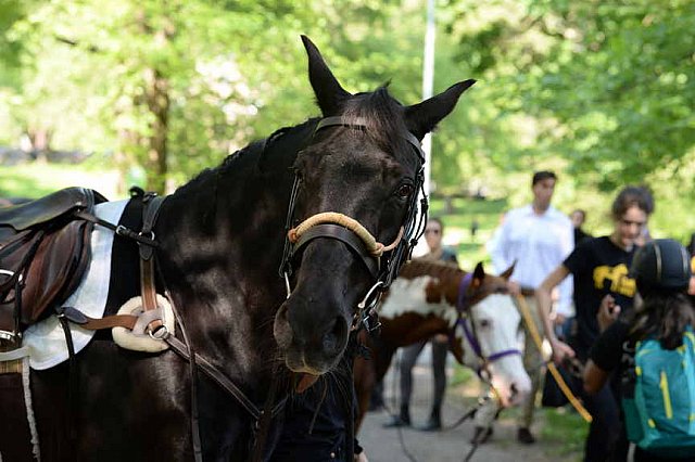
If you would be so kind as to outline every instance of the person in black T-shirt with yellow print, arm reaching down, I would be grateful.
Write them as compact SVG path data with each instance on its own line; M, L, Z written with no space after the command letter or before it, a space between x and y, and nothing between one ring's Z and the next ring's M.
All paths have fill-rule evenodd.
M602 303L619 306L622 312L631 311L635 282L628 271L636 248L635 242L653 211L654 200L646 189L622 189L611 206L612 233L580 243L541 283L536 291L538 311L553 348L553 360L557 364L561 364L565 358L586 361L599 334L596 313ZM569 277L574 278L577 329L568 344L555 335L551 308L553 290ZM572 382L576 389L582 389L581 377L573 377ZM593 416L586 436L584 460L604 461L619 436L618 402L609 386L582 398Z

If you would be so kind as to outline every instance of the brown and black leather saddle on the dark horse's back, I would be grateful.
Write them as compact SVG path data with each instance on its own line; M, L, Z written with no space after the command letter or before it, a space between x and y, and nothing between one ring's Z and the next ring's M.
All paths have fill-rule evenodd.
M77 288L90 262L93 222L75 214L92 214L105 201L96 191L67 188L0 208L0 341L17 343Z

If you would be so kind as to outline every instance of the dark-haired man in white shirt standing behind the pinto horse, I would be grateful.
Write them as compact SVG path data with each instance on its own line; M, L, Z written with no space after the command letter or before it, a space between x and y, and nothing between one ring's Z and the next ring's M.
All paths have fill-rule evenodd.
M534 318L539 332L543 332L535 307L535 288L543 282L574 247L572 223L569 218L551 206L557 177L553 171L536 171L533 175L533 202L525 207L509 210L502 223L494 243L489 246L495 271L500 273L516 262L509 282L509 292L525 297L529 311ZM559 318L571 316L572 279L567 278L559 286L555 306ZM535 396L541 389L541 364L543 355L528 333L526 334L523 365L531 377L531 394L523 403L517 438L532 444L535 438L530 432L533 421Z

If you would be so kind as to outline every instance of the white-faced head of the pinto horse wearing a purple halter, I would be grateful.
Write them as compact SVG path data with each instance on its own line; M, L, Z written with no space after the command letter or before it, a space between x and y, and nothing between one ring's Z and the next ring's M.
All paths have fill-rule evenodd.
M519 350L521 317L507 292L511 271L509 268L498 277L485 274L478 264L468 288L469 315L459 322L457 333L464 339L466 365L484 365L504 406L521 402L531 389Z

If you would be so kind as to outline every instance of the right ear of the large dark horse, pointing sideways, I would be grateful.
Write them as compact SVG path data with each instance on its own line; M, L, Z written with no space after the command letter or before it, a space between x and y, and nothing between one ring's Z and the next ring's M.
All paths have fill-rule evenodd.
M459 81L435 97L405 108L405 124L418 140L422 140L437 124L448 115L464 91L476 82L473 79Z

